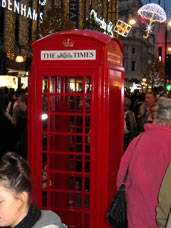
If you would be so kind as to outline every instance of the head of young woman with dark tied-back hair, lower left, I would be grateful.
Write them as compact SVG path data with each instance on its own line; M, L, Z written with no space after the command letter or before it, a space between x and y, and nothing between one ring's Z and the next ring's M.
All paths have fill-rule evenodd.
M27 215L31 191L27 162L18 154L6 153L0 161L0 227L14 227Z

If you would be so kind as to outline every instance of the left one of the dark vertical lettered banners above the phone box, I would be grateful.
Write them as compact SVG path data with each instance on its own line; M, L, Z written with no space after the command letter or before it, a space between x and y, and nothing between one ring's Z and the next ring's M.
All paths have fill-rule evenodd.
M79 1L78 0L69 1L69 18L74 23L75 27L78 28L78 25L79 25Z

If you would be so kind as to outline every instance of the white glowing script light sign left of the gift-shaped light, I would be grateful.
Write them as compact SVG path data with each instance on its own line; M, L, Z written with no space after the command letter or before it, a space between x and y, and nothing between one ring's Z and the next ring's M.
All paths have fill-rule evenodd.
M108 33L111 34L111 36L113 36L113 24L112 22L109 22L109 24L106 24L106 22L103 20L101 20L100 18L97 17L97 13L94 10L91 10L90 12L90 16L94 16L94 20L100 25L100 28L103 29L105 32L107 31Z

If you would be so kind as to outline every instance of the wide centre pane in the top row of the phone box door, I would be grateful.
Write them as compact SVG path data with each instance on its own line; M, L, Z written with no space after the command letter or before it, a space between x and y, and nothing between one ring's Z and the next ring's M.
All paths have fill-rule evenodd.
M51 93L81 93L83 77L80 76L51 76Z

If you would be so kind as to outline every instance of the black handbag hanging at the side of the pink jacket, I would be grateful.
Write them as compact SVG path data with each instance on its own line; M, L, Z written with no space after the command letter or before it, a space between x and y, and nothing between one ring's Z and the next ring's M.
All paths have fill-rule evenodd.
M107 221L113 228L127 228L127 208L126 208L126 179L128 169L126 171L123 183L114 196L111 206L107 213Z

